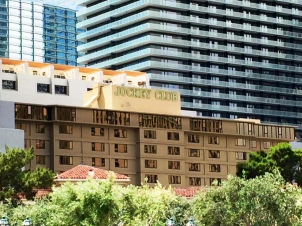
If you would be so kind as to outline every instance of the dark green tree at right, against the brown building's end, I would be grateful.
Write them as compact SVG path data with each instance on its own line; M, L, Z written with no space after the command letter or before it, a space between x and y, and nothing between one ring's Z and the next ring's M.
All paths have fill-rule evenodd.
M237 163L237 176L247 179L272 173L278 169L286 182L302 184L302 150L293 150L289 143L279 143L271 147L269 152L250 152L247 162Z

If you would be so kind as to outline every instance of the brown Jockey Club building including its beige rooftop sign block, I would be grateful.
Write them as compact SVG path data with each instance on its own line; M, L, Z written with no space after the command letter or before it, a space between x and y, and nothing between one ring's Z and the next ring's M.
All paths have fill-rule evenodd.
M182 116L177 92L108 85L86 95L95 93L89 108L15 104L15 126L24 130L25 147L35 148L29 168L60 173L84 162L136 185L147 178L151 185L202 186L236 174L248 152L295 139L290 126Z

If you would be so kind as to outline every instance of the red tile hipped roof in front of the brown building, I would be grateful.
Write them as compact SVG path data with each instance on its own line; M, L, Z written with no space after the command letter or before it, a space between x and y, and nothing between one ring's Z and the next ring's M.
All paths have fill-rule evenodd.
M87 179L90 176L88 175L89 171L94 172L94 179L106 179L108 176L109 171L100 169L100 168L95 168L92 166L88 165L78 165L74 168L71 168L61 174L58 174L55 179ZM123 174L117 174L114 173L116 176L116 180L129 180L130 177L127 177L126 175Z

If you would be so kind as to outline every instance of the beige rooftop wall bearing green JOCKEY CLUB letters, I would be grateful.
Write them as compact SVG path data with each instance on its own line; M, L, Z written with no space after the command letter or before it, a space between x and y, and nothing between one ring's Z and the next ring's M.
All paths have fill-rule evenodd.
M161 89L127 86L104 86L98 99L99 108L180 115L180 93Z

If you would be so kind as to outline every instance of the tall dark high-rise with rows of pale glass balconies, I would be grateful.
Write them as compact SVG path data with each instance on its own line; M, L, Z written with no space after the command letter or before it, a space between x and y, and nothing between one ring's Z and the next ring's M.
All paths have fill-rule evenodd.
M146 71L151 86L180 90L183 109L293 124L302 137L302 0L78 4L78 63Z

